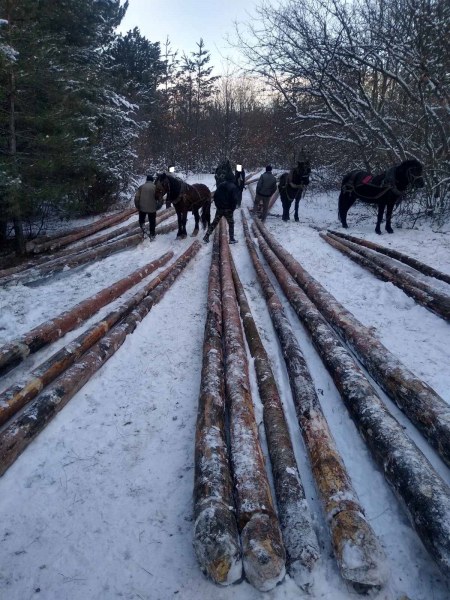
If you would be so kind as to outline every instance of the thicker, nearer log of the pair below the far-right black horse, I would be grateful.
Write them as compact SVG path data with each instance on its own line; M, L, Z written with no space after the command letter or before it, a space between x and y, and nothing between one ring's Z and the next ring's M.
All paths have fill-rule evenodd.
M343 239L334 238L330 234L319 234L322 239L328 242L333 248L336 248L354 262L365 267L368 271L373 273L376 277L382 281L388 281L405 292L408 296L413 298L418 304L424 306L434 314L450 321L450 296L442 294L432 287L427 286L425 283L420 282L418 279L409 275L406 272L394 265L388 267L383 262L382 257L365 254L364 248L347 242Z

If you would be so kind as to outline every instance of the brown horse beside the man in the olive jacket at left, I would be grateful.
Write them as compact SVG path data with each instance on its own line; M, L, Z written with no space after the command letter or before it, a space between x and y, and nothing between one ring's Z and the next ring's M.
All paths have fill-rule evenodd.
M203 183L194 183L189 185L178 177L160 173L155 180L156 199L162 199L166 196L166 207L173 204L178 218L177 238L185 238L187 214L192 212L195 218L194 231L192 237L198 234L201 209L202 227L206 229L211 221L211 191Z

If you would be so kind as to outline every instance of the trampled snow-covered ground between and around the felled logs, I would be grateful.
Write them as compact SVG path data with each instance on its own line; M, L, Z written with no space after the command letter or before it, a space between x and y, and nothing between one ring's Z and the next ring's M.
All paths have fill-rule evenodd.
M213 187L211 175L192 180ZM248 190L243 204L251 205ZM393 236L380 237L374 233L374 215L364 210L356 206L350 210L349 233L389 245L450 273L450 234L421 226L396 229ZM279 201L272 212L280 215ZM246 582L231 588L216 587L196 564L192 549L194 432L210 244L202 247L161 303L0 479L0 598L253 600L264 596L271 600L344 600L356 596L341 579L331 553L284 363L245 247L238 211L235 215L240 243L233 246L232 254L273 360L322 548L310 594L301 591L289 577L265 594ZM393 224L395 227L395 218ZM310 189L301 206L300 223L285 224L279 216L269 216L267 226L322 285L374 330L385 346L450 402L450 325L319 237L322 228L338 228L336 194ZM190 218L188 230L192 227ZM135 249L65 271L33 287L0 288L0 344L170 248L179 255L192 241L174 238L175 233L171 233L157 237L152 244L146 240ZM434 283L450 293L450 286ZM370 597L448 600L450 583L410 526L307 334L284 304L338 449L388 557L388 583ZM111 305L104 307L83 328L110 310ZM3 378L1 389L80 331L71 332L28 359ZM252 388L260 419L253 375ZM449 483L447 467L406 417L380 394Z

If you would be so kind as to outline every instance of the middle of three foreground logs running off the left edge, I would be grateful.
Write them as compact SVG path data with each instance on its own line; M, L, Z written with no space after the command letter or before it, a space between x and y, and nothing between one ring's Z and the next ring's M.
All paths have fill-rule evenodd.
M171 258L171 254L173 256L173 253L168 253L158 261L150 263L152 268L149 272L154 271L164 264L164 262L167 262ZM91 346L98 342L107 331L133 310L157 285L163 282L170 275L171 269L172 267L168 267L159 273L126 302L108 313L101 321L89 327L89 329L70 342L70 344L58 350L58 352L39 365L25 380L15 383L0 393L0 425L3 425L13 414L30 402L44 387L49 385Z

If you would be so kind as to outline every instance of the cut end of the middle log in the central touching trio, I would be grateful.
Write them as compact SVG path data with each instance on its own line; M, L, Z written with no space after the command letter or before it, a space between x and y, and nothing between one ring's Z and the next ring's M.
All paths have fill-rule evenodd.
M278 522L255 514L241 532L245 576L261 592L273 589L284 579L286 553Z

